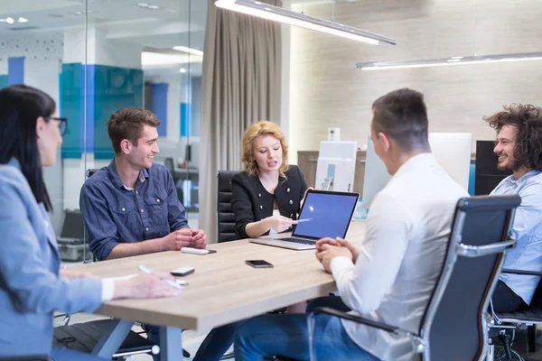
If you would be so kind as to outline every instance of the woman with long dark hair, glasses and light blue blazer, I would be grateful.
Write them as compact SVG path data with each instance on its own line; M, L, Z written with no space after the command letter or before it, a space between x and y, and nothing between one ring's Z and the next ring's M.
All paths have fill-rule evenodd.
M61 270L42 166L56 162L66 123L41 90L23 85L0 90L1 356L98 360L52 347L53 311L92 312L103 301L177 294L163 281L164 274L100 280Z

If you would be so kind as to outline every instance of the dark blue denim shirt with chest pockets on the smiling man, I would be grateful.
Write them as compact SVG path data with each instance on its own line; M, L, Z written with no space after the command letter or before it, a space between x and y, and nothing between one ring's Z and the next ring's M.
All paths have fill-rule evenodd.
M90 250L98 260L119 243L159 238L188 227L173 177L161 164L142 170L135 189L129 189L111 161L85 181L79 207Z

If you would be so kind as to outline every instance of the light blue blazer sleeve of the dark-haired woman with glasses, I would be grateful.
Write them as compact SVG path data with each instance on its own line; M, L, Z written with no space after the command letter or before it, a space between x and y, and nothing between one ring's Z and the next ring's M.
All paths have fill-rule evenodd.
M33 313L97 310L102 302L102 282L92 278L69 280L51 272L21 194L8 182L0 184L0 197L0 282L12 296L14 306Z

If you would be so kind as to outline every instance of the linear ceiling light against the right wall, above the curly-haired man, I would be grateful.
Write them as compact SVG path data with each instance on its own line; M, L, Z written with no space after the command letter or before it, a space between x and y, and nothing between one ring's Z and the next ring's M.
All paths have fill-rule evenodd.
M452 57L428 60L358 62L356 69L386 70L409 68L451 67L456 65L491 64L494 62L512 62L542 60L542 52L521 52L515 54L496 54L486 56Z

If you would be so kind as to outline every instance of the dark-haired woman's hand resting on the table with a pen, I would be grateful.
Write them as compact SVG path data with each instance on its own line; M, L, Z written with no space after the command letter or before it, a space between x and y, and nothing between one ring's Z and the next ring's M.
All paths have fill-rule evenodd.
M164 282L165 278L174 281L173 276L164 273L138 274L128 280L118 280L115 282L113 300L177 296L180 290Z

